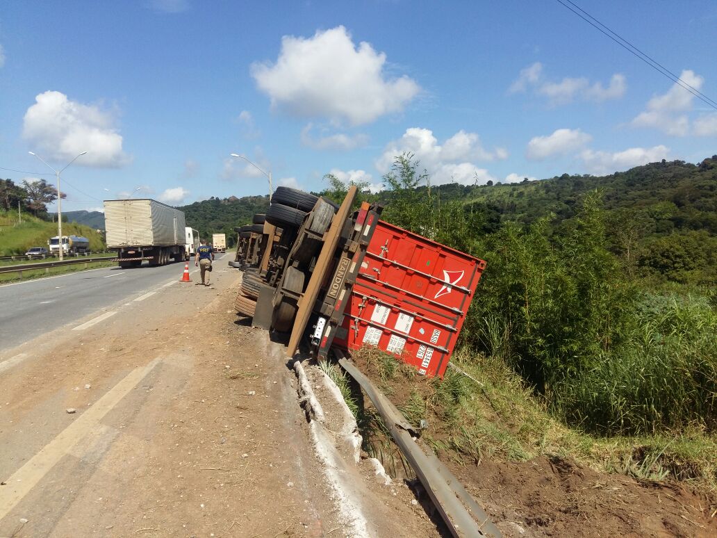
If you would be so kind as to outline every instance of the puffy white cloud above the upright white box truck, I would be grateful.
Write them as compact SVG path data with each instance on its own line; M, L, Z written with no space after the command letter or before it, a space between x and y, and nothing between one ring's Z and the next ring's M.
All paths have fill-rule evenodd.
M45 160L75 161L77 166L118 168L131 161L122 151L114 114L97 105L83 105L67 95L47 91L27 109L22 136Z

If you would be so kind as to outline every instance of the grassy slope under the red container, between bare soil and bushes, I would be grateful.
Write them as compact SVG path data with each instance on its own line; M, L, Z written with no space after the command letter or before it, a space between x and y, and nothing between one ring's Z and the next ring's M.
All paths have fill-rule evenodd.
M381 351L354 353L368 373L413 425L427 420L422 439L458 462L530 461L558 456L596 471L643 481L680 481L717 502L717 436L695 425L652 435L610 435L570 428L557 419L523 379L497 357L463 349L444 379L427 379ZM348 376L326 367L359 422L364 450L386 468L402 465L376 413L360 408Z

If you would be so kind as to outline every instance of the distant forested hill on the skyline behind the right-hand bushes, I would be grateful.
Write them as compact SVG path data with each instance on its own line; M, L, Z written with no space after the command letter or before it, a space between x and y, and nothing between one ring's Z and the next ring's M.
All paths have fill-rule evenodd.
M424 187L425 188L425 187ZM495 225L533 222L555 214L566 220L587 192L600 189L605 209L639 212L654 221L655 232L706 230L717 234L717 155L700 164L662 161L609 176L563 174L541 181L465 187L435 187L443 200L462 199L480 208Z

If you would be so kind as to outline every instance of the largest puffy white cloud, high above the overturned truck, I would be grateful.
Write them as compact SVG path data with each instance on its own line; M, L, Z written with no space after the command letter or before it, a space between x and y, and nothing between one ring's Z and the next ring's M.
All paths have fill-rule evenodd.
M251 73L272 108L361 125L400 112L420 91L405 75L389 77L385 64L384 52L367 42L356 47L339 26L310 38L282 37L277 61L255 62Z

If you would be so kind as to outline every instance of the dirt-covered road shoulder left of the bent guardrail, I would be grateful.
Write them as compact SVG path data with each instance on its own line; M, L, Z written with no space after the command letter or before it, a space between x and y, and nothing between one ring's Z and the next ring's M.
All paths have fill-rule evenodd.
M32 356L0 379L0 488L150 369L46 473L22 475L37 484L0 516L0 537L438 536L406 486L343 456L327 470L282 346L234 313L239 273L214 275L12 351ZM355 487L337 493L331 476Z

